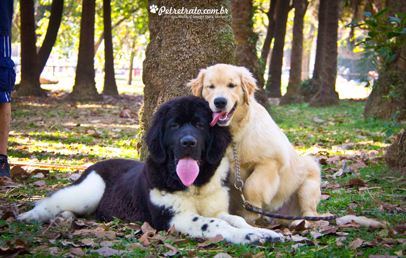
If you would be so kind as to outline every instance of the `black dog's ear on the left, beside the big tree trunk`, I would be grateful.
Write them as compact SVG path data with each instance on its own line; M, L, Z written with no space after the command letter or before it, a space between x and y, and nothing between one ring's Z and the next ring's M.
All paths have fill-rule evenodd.
M167 108L164 106L158 109L145 137L148 151L156 163L163 163L166 160L165 146L163 144L166 113Z

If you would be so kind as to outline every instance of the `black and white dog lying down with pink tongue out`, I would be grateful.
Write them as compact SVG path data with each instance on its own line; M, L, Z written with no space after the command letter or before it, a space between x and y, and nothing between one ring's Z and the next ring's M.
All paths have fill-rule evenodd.
M223 159L231 134L210 126L212 111L197 97L163 104L147 132L150 155L145 163L107 160L87 168L82 176L38 202L18 220L45 222L61 211L113 216L148 222L157 230L175 229L192 237L222 235L228 242L279 242L282 235L248 225L228 214L228 159Z

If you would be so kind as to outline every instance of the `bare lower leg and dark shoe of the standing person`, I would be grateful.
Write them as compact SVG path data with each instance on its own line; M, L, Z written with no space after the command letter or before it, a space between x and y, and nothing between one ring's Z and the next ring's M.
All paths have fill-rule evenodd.
M5 92L0 92L5 94ZM10 166L7 161L7 142L10 131L11 104L0 104L0 176L10 176Z

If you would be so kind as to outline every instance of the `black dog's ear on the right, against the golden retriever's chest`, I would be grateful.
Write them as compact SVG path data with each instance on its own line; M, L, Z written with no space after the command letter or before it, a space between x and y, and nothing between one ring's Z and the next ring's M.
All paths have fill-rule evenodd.
M210 127L210 140L206 150L206 160L209 164L216 164L225 154L231 142L231 133L228 127L215 125Z

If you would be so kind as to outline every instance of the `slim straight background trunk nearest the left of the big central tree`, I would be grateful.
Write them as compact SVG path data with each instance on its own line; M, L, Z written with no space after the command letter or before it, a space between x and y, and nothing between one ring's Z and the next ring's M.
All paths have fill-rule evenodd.
M118 89L114 77L113 39L111 35L111 5L110 0L103 0L103 24L105 36L105 83L103 94L117 96Z

